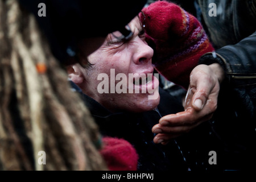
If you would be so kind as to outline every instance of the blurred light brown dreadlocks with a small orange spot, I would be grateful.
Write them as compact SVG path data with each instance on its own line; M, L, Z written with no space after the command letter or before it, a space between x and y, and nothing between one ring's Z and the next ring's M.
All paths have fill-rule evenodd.
M0 0L0 24L0 169L107 169L94 145L98 127L34 16L16 0Z

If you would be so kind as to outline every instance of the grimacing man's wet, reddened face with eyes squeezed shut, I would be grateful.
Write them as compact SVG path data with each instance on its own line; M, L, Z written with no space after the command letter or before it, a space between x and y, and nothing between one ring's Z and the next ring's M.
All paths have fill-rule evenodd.
M146 43L138 16L128 26L133 36L119 40L116 37L120 32L109 34L102 46L88 56L92 65L72 65L69 78L110 111L152 110L160 100L159 81L152 66L154 51Z

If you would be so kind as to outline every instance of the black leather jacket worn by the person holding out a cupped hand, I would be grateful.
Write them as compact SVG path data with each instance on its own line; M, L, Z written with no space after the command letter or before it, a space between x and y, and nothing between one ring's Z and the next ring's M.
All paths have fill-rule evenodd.
M211 2L217 5L217 16L208 15ZM198 3L205 28L216 47L216 56L207 53L200 64L219 63L226 74L211 121L212 129L225 151L229 151L225 158L236 169L244 169L255 163L256 151L256 1L199 0Z

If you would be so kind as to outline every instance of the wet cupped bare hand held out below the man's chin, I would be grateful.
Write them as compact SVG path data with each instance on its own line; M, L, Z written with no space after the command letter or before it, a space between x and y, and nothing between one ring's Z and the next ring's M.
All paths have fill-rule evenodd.
M166 115L152 127L152 132L157 134L154 142L166 144L212 118L223 79L224 71L217 63L195 67L190 75L184 111Z

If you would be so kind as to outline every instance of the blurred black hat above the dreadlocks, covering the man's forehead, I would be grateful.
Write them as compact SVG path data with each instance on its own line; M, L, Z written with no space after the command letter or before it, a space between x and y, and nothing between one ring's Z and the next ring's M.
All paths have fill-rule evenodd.
M104 37L123 29L146 4L146 0L19 0L35 15L48 38L53 55L63 64L74 56L82 38ZM46 5L46 16L39 16L39 3Z

